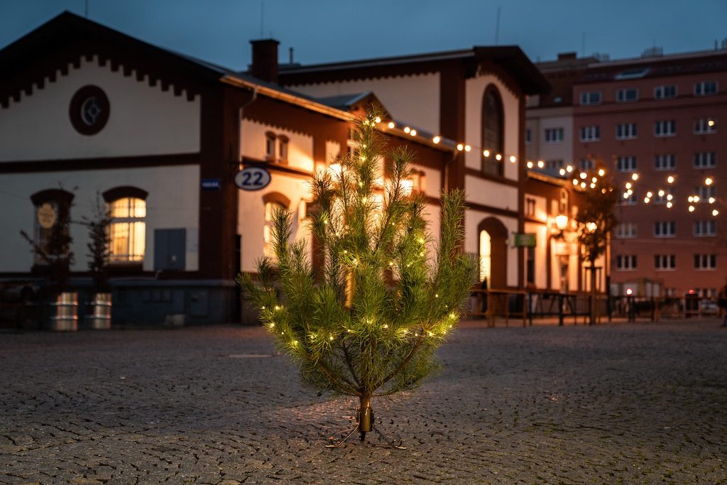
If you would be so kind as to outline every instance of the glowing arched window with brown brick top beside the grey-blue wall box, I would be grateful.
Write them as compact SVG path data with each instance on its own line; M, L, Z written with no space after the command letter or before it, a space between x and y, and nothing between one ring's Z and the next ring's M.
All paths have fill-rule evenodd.
M135 187L117 187L103 193L103 199L113 217L109 227L112 263L144 260L147 195L146 191Z

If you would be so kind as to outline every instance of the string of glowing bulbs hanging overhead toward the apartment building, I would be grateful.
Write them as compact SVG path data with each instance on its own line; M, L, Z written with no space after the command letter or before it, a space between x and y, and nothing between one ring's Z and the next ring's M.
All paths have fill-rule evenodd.
M381 118L377 117L375 119L376 123L379 124L382 122ZM710 120L712 124L710 124L710 127L713 126L714 122ZM416 137L419 135L420 137L424 137L426 139L430 139L431 142L434 145L439 145L440 143L446 144L450 148L455 148L457 151L470 153L473 151L473 145L470 145L468 143L457 143L454 140L449 140L444 137L441 137L440 135L434 135L432 137L429 137L428 134L425 134L425 132L422 132L422 130L417 131L414 127L410 127L406 124L397 123L395 121L388 121L385 124L385 127L388 129L400 129L402 132L406 133L406 135L409 135L411 137ZM476 147L474 147L476 148ZM478 148L480 149L480 148ZM518 157L515 155L507 156L506 153L493 153L489 148L481 148L482 150L482 156L489 158L490 156L494 156L494 159L497 161L502 160L508 160L510 163L515 164L518 161ZM545 161L543 160L529 160L526 159L524 161L525 167L527 169L535 169L536 167L538 169L544 169L545 168ZM576 172L576 168L574 164L566 165L566 167L561 167L558 170L558 174L561 175L561 177L570 177L571 174L574 174ZM598 174L598 177L604 177L606 175L606 169L599 168L598 172L595 172ZM596 187L598 182L598 177L591 176L590 180L587 180L588 174L587 172L578 172L577 175L572 176L572 182L574 186L577 186L579 188L582 188L583 190L587 189L593 189ZM623 198L624 199L630 199L632 198L633 194L635 193L635 183L639 180L638 172L631 172L630 177L628 177L629 180L624 182L624 192L623 192ZM667 175L665 182L667 185L665 187L672 187L674 183L676 182L675 175ZM710 187L715 184L714 177L705 177L704 178L704 186ZM644 193L643 201L644 204L650 204L652 202L652 199L654 199L654 193L656 193L657 199L656 201L663 201L664 198L666 199L665 207L667 209L672 209L672 207L675 206L675 198L672 193L670 193L669 189L664 188L657 188L657 189L649 189ZM703 200L704 199L704 200ZM702 198L702 196L699 196L699 194L691 194L686 198L687 202L687 210L688 212L694 212L696 210L696 207L694 204L699 203L700 201L707 201L709 204L715 204L717 202L717 199L715 197L710 196L707 198ZM718 209L712 209L712 216L716 217L720 214Z

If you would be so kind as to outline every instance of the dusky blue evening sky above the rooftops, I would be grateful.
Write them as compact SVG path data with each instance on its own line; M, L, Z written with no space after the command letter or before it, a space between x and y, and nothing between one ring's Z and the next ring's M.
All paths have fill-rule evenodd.
M304 64L516 44L533 61L558 52L611 59L714 49L727 0L0 0L0 48L70 10L151 44L245 69L249 40L281 41Z

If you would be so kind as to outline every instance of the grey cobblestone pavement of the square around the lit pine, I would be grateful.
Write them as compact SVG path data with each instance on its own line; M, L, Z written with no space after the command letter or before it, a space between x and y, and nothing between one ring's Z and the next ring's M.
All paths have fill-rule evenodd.
M260 328L0 334L9 484L727 483L727 329L460 328L443 372L356 404L301 388Z

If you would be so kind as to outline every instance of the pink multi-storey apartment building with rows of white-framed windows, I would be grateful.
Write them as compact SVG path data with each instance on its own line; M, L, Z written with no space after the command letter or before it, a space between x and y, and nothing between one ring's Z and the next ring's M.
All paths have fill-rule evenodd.
M591 63L573 85L573 161L622 192L611 293L714 296L727 277L727 51Z

